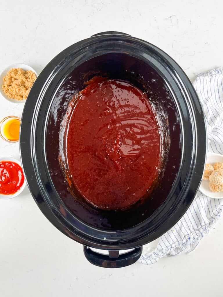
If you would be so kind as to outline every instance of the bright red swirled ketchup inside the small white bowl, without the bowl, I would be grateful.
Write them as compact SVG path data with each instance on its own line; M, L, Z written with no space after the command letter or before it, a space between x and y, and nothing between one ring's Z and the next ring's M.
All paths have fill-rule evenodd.
M21 166L11 161L0 162L0 194L15 194L23 183L24 175Z

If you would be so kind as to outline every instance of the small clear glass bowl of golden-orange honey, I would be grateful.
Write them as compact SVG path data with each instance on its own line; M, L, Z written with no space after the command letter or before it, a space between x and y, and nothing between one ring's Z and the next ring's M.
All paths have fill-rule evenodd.
M19 141L21 119L18 116L7 116L0 122L0 136L7 142Z

